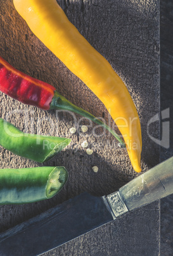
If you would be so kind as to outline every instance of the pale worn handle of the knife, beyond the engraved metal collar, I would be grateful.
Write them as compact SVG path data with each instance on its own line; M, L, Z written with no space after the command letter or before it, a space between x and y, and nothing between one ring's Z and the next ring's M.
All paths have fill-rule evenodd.
M119 189L129 211L173 193L173 157L141 174Z

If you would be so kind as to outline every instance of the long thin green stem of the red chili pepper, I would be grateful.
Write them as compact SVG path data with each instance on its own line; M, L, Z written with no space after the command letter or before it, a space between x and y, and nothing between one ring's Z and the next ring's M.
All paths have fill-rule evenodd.
M83 110L82 108L79 108L74 104L70 103L70 101L68 101L65 97L61 96L61 94L59 94L59 92L57 91L54 92L54 97L51 101L50 110L68 110L79 115L82 115L82 117L90 119L91 121L101 125L107 131L109 131L119 141L119 146L121 148L125 148L125 143L122 140L122 138L120 138L120 136L115 131L113 131L108 125L99 120L99 118L94 117L94 115L87 112L86 110Z

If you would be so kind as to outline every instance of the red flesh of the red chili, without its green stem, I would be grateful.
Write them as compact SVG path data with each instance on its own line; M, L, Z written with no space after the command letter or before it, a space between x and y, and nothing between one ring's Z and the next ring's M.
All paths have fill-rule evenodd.
M0 90L22 103L49 110L56 89L16 70L0 57Z

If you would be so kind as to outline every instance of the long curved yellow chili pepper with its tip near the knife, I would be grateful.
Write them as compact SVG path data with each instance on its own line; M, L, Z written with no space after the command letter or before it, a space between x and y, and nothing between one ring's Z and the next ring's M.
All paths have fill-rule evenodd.
M32 32L105 104L135 171L141 171L141 125L132 98L108 61L70 23L56 0L13 0Z

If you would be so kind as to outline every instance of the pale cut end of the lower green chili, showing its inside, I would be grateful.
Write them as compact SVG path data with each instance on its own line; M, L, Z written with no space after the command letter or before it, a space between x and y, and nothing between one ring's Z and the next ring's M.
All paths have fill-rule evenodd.
M46 185L46 197L49 199L55 196L68 180L68 172L65 167L55 167L49 174Z

